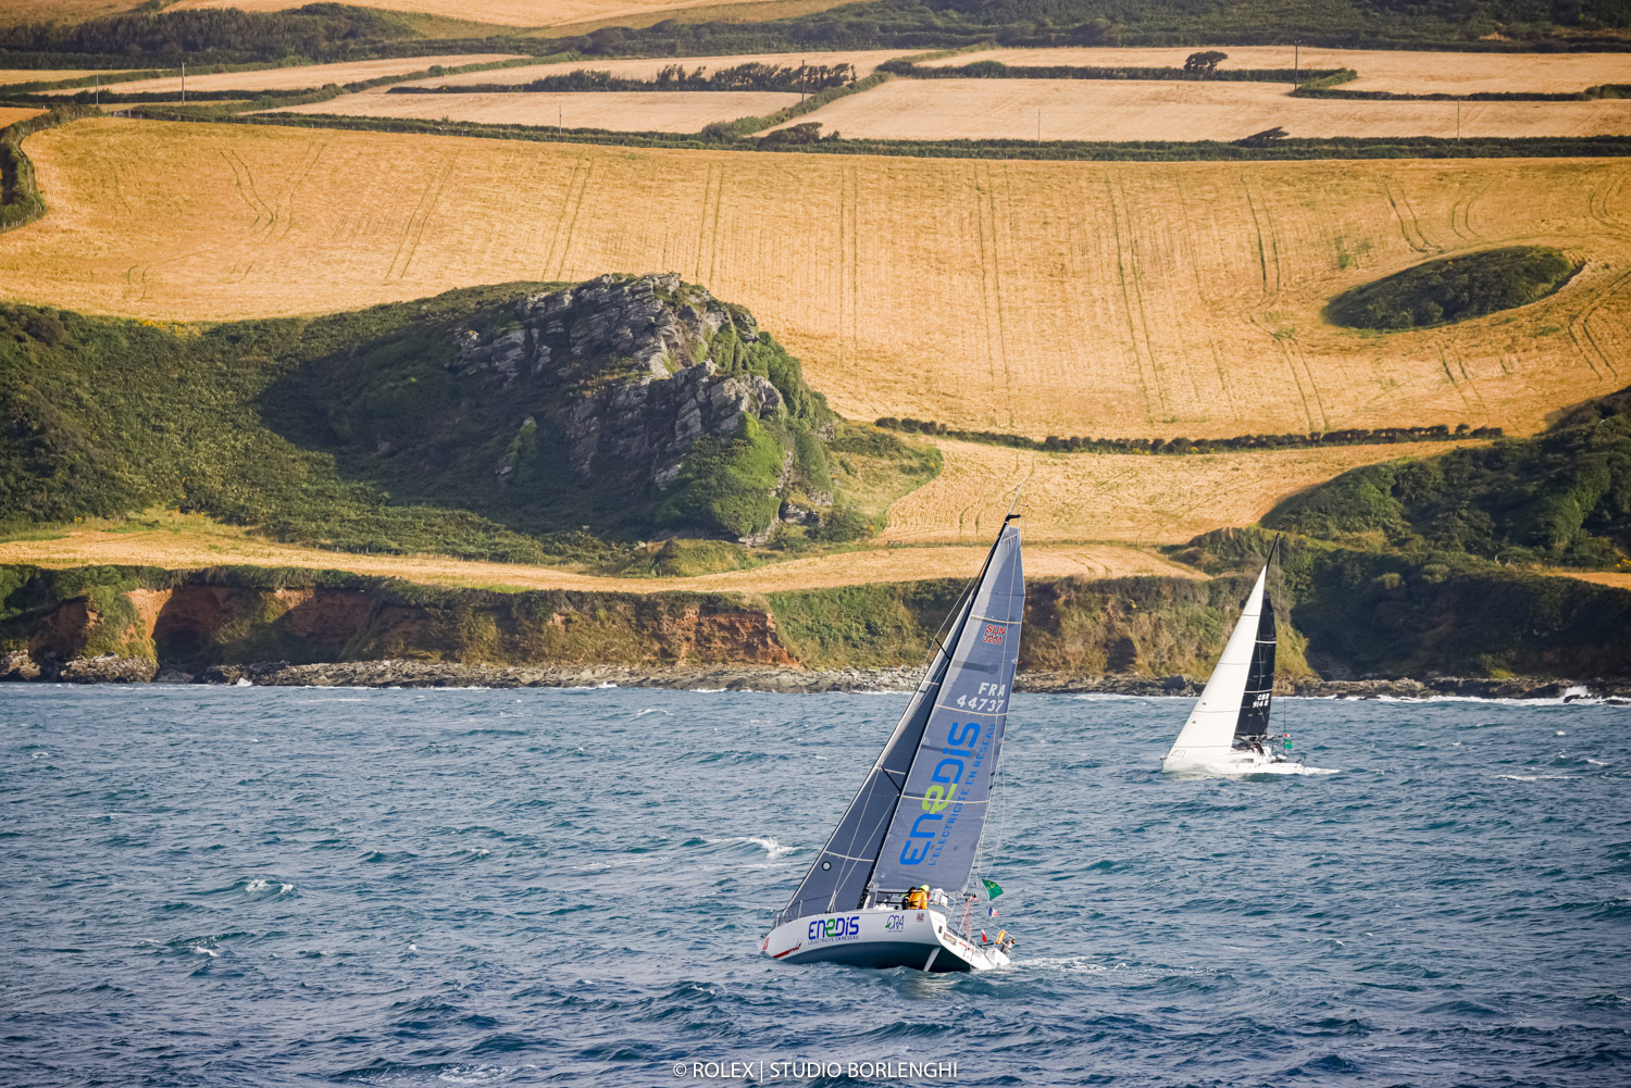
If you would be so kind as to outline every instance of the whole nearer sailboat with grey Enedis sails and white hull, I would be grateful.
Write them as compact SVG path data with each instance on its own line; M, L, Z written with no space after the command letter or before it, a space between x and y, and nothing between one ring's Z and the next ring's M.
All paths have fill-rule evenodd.
M931 972L1008 964L1013 940L987 935L980 923L995 910L974 922L977 896L962 889L979 860L1019 659L1018 519L1003 519L894 734L776 915L765 956ZM907 907L925 886L928 902Z

